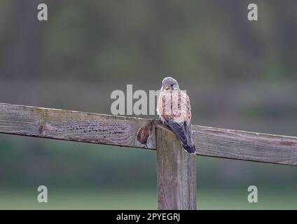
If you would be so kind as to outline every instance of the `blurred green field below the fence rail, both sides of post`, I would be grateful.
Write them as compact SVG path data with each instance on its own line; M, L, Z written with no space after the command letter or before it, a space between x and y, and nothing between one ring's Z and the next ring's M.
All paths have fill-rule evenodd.
M9 135L0 148L0 209L157 208L156 152ZM296 167L198 156L197 168L198 209L297 209Z

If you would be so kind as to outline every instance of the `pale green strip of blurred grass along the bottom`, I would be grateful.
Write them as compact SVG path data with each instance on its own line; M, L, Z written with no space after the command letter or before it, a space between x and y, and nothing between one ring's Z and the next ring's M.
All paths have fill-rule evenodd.
M0 209L156 209L153 191L55 191L48 203L39 203L37 193L6 191L0 193ZM258 203L247 202L247 193L205 191L198 193L198 209L297 209L297 197L288 190L282 194L258 195Z

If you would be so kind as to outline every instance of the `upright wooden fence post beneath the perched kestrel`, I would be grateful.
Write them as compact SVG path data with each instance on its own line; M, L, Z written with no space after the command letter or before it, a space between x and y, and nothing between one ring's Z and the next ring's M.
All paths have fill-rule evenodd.
M158 209L196 209L196 156L184 151L177 137L156 127Z

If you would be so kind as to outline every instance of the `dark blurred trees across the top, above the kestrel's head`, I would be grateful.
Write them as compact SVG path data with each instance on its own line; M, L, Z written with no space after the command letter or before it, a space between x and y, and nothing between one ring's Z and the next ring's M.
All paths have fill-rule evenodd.
M4 1L0 72L9 78L132 80L180 73L203 80L295 77L296 1ZM285 12L285 13L284 13ZM20 74L22 73L22 74ZM42 77L40 77L42 76Z

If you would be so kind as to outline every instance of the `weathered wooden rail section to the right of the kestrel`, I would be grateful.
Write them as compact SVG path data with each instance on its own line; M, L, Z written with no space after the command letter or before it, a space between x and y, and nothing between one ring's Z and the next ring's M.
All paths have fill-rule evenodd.
M196 153L297 165L297 138L192 125Z

